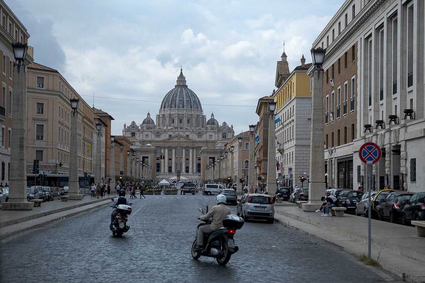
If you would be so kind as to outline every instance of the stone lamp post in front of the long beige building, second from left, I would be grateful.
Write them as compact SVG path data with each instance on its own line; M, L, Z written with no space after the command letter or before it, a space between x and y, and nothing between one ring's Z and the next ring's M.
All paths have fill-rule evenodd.
M69 148L69 155L70 155L70 161L69 161L69 180L68 180L68 186L69 186L69 193L68 193L68 199L76 199L80 200L83 199L83 194L78 193L78 103L80 102L80 99L78 98L71 98L71 108L72 108L72 115L71 115L71 145Z

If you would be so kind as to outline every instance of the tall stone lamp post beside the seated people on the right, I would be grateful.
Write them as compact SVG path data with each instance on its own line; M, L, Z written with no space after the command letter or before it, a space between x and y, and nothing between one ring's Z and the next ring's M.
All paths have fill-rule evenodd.
M302 204L304 211L315 211L325 195L325 151L323 150L324 121L323 121L323 72L322 65L326 49L312 48L313 64L313 93L311 113L311 139L310 139L310 175L308 184L308 203Z

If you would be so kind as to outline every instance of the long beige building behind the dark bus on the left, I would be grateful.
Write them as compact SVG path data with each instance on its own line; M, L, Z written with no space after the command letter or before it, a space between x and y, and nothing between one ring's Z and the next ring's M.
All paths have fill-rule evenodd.
M27 173L39 160L40 172L68 174L71 103L78 104L78 171L93 174L94 111L55 69L32 63L27 67Z

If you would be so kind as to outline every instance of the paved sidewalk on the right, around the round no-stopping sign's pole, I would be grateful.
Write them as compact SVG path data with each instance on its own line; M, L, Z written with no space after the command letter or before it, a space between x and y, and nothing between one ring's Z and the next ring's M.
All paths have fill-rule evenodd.
M368 253L368 219L345 214L321 217L294 206L276 206L275 219L289 228L359 256ZM425 238L414 227L372 220L372 257L381 268L406 282L425 282Z

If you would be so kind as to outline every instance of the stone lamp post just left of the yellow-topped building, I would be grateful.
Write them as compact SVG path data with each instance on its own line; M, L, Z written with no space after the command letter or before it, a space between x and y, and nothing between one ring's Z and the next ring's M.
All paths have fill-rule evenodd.
M275 109L276 102L269 101L269 146L267 153L267 191L276 191L276 138L275 138Z

